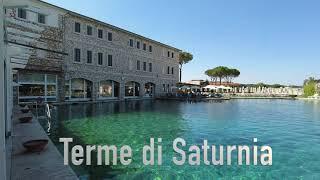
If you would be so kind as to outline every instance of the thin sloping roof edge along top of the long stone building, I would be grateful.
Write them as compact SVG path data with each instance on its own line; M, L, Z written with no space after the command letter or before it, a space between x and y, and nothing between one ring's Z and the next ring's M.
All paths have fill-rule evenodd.
M175 48L175 47L173 47L173 46L170 46L170 45L161 43L161 42L159 42L159 41L156 41L156 40L147 38L147 37L145 37L145 36L142 36L142 35L136 34L136 33L134 33L134 32L125 30L125 29L123 29L123 28L120 28L120 27L117 27L117 26L108 24L108 23L106 23L106 22L103 22L103 21L100 21L100 20L97 20L97 19L94 19L94 18L85 16L85 15L79 14L79 13L77 13L77 12L74 12L74 11L71 11L71 10L68 10L68 9L65 9L65 8L62 8L62 7L59 7L59 6L56 6L56 5L54 5L54 4L50 4L50 3L45 2L45 1L43 1L43 0L37 0L37 1L39 1L39 2L41 2L41 3L44 3L44 4L46 4L46 5L49 5L49 6L58 8L58 9L60 9L60 10L66 11L66 12L69 13L69 14L72 14L72 15L75 15L75 16L78 16L78 17L82 17L82 18L85 18L85 19L90 20L90 21L96 21L96 22L98 22L98 23L100 23L100 24L102 24L102 25L105 25L105 26L108 26L108 27L113 28L113 29L115 29L115 30L118 30L118 31L121 31L121 32L130 34L130 35L132 35L132 36L136 36L136 37L138 37L138 38L145 39L145 40L150 41L150 42L153 42L153 43L155 43L155 44L158 44L158 45L161 45L161 46L165 46L165 47L167 47L167 48L174 49L174 50L176 50L176 51L182 51L182 50L180 50L180 49L178 49L178 48Z

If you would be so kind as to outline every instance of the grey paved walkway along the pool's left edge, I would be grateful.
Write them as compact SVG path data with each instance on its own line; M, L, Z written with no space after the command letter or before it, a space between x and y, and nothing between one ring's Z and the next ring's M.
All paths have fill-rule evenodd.
M76 180L78 177L69 166L63 165L63 157L51 142L38 120L19 123L23 116L20 107L14 108L12 131L11 179L12 180ZM31 114L29 114L31 115ZM22 143L32 139L48 139L41 153L28 153Z

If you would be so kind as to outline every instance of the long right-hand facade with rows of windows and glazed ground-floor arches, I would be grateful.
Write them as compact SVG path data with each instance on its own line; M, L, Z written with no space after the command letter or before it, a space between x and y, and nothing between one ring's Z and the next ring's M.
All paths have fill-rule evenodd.
M65 100L155 97L179 78L179 50L79 14L65 16Z

